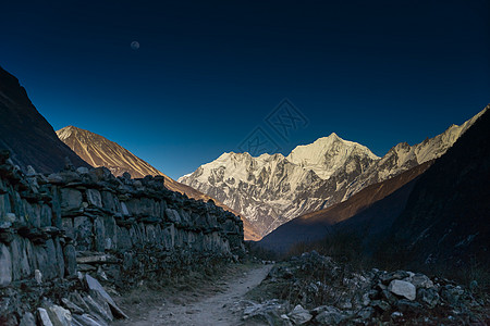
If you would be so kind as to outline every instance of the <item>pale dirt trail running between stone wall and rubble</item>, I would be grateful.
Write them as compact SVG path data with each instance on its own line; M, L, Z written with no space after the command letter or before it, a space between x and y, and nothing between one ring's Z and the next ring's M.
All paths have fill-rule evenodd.
M211 293L186 289L176 293L177 298L161 298L161 302L154 301L148 305L143 301L137 304L137 313L134 308L133 313L130 311L130 319L119 321L114 325L240 325L241 314L233 312L233 303L244 299L246 292L259 285L271 267L272 265L260 265L229 275L212 285Z

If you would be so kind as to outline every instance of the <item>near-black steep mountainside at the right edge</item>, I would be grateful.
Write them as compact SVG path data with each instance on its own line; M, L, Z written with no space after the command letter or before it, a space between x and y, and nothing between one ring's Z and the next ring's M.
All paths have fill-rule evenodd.
M458 265L470 260L488 264L489 109L420 176L405 209L379 242L378 256L391 247L394 254L404 252L411 261L426 264Z

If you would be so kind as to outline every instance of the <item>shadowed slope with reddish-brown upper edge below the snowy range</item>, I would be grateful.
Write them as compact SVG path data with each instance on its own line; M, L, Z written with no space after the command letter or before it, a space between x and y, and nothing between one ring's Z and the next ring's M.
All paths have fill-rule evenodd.
M345 222L350 229L357 226L364 229L366 227L363 223L364 220L373 221L375 216L379 214L377 210L370 209L376 206L379 201L394 197L390 209L397 209L400 212L406 203L409 190L399 191L395 196L392 196L392 193L401 188L412 189L413 180L427 171L432 162L426 162L391 179L368 186L344 202L298 216L278 227L258 243L265 249L285 253L295 243L311 242L324 238L336 229L335 225L342 225L342 222ZM353 217L364 216L364 211L376 212L376 214L375 216L369 215L369 217ZM372 223L377 224L378 222ZM385 221L381 220L379 223L384 225Z

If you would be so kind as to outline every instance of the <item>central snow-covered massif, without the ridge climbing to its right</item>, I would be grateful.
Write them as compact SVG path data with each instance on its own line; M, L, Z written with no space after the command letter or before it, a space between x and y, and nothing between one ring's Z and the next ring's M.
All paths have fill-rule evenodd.
M320 209L324 193L354 180L376 160L368 148L332 134L297 147L287 158L224 153L179 181L225 201L264 236L301 213ZM324 178L342 183L324 189Z

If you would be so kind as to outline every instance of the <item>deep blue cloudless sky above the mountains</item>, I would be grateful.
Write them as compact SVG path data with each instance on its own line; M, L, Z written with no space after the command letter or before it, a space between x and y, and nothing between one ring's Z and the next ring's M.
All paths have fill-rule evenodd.
M257 126L285 154L335 131L382 155L490 102L486 0L32 2L0 4L0 65L54 129L174 178ZM309 121L285 140L265 123L284 98Z

